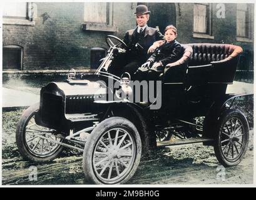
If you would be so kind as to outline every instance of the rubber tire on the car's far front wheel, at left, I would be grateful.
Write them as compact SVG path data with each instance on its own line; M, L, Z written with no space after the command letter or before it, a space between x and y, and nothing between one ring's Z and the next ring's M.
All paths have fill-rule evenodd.
M16 144L18 146L19 153L24 159L35 162L35 163L48 163L49 161L52 161L53 159L57 158L59 154L61 154L61 152L63 151L63 146L59 146L59 148L56 149L55 153L51 154L51 156L39 158L38 156L35 156L34 154L31 154L29 152L29 150L26 148L26 144L24 141L26 126L28 125L29 120L34 116L34 114L38 110L39 110L39 103L34 104L33 106L30 106L22 114L16 128Z

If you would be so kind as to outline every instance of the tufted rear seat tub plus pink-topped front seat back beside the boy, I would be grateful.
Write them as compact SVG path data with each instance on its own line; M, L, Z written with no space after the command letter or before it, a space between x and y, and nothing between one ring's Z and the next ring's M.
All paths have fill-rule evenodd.
M197 86L232 84L242 48L232 44L182 44L182 56L165 67L165 81Z

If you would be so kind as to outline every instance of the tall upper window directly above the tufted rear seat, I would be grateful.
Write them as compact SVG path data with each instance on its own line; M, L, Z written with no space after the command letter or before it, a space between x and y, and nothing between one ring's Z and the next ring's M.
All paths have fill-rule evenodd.
M193 32L194 37L213 39L211 36L212 6L210 4L193 4Z

